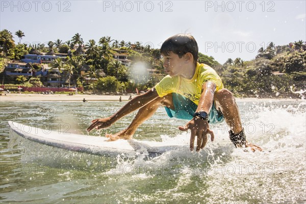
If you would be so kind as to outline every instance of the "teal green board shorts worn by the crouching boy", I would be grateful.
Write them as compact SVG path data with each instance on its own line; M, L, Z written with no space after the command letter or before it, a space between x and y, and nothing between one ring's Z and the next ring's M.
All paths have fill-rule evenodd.
M193 114L197 109L197 105L193 103L192 100L182 96L181 94L172 93L172 100L174 109L172 110L168 107L165 107L166 112L170 118L175 117L179 119L191 120L193 118ZM213 103L213 107L209 112L209 121L211 124L217 124L224 121L224 116L221 112L217 111L215 107L215 103Z

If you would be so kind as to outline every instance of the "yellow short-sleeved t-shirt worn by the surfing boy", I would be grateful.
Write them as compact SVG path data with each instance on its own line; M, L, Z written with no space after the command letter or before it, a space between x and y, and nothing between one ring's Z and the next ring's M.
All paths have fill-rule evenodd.
M213 68L206 64L197 63L192 79L167 75L155 86L155 89L160 97L169 93L179 93L198 105L202 93L202 84L207 81L216 84L216 91L224 88L221 78Z

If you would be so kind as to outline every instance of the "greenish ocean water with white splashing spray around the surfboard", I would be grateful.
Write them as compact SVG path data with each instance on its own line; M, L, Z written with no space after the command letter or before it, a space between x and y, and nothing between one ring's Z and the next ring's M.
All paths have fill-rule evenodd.
M8 121L86 135L95 118L125 102L2 102L1 203L305 203L305 101L238 101L247 139L263 152L235 148L228 127L211 126L215 141L189 150L187 121L164 109L142 124L138 140L186 144L148 158L145 152L95 156L46 146L10 134ZM135 113L90 135L126 127Z

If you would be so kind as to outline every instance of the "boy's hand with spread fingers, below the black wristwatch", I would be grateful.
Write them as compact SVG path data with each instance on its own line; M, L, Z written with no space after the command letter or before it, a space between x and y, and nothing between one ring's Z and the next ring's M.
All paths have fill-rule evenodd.
M214 132L209 129L208 121L202 120L199 117L194 117L185 126L179 126L181 131L191 130L190 150L194 148L194 139L197 136L196 151L204 148L207 142L207 134L211 135L211 140L214 141Z

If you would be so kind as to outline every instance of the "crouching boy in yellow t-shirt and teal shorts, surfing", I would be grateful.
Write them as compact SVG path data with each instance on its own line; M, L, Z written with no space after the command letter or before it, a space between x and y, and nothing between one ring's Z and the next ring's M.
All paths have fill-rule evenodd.
M134 97L114 115L93 120L87 131L109 127L121 117L139 109L127 129L115 135L106 134L111 140L131 139L137 127L162 105L170 117L190 120L185 126L179 127L181 131L191 130L190 150L194 148L195 136L196 151L205 147L207 134L211 135L213 141L214 133L208 123L218 123L224 119L231 127L230 139L236 147L261 150L246 141L232 93L224 89L214 69L197 63L198 46L193 36L174 35L162 44L160 51L168 75L154 88Z

